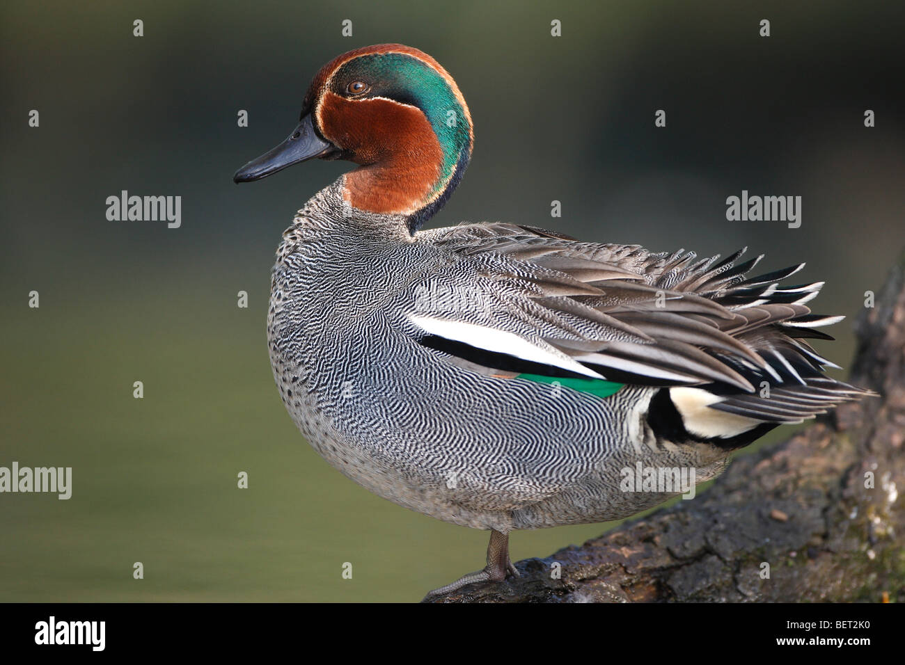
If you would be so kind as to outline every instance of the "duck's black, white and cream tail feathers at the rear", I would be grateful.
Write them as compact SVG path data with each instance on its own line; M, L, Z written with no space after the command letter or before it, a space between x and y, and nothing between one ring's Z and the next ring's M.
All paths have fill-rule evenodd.
M738 256L730 257L734 258ZM816 328L844 318L812 314L806 306L824 282L780 286L780 280L800 271L804 263L745 280L744 273L758 260L734 268L731 261L724 261L718 275L711 272L711 279L698 285L702 295L738 315L726 323L730 328L726 331L761 362L713 351L710 355L738 372L754 390L722 382L662 388L653 396L649 420L663 436L734 449L780 424L802 423L839 404L876 395L826 375L826 367L841 367L805 341L833 339Z

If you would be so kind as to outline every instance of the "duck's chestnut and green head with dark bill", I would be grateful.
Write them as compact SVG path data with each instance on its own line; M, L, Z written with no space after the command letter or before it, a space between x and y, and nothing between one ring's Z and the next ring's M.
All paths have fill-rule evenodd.
M379 44L327 63L298 127L233 180L260 180L315 157L348 159L359 166L343 176L345 201L404 215L414 234L459 184L473 142L468 106L440 63L410 46Z

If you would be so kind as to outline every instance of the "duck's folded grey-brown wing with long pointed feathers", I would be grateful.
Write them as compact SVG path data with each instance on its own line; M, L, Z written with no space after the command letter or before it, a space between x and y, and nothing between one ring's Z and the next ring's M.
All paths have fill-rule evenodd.
M476 371L700 386L710 408L776 423L866 393L824 376L834 365L805 342L843 317L806 306L823 282L780 286L804 264L748 278L763 257L738 262L745 250L699 260L507 223L417 238L455 261L418 285L415 334Z

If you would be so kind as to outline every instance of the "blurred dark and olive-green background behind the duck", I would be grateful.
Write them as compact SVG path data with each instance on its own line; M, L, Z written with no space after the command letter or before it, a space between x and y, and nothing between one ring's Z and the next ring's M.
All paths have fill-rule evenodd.
M377 499L320 460L272 383L273 251L349 165L231 177L289 133L339 52L407 43L459 82L475 152L429 225L505 220L700 255L748 245L765 271L808 261L801 281L827 280L816 310L856 315L905 245L905 10L788 5L5 3L0 466L71 466L73 489L0 495L0 601L415 601L483 565L485 532ZM181 195L182 227L107 221L122 189ZM801 228L727 222L742 189L801 195ZM846 365L851 318L834 334L819 347ZM518 532L512 556L604 528Z

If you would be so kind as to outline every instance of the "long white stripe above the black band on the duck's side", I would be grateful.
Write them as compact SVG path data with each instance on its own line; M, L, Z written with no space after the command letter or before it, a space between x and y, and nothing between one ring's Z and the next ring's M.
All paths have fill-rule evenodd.
M560 367L561 369L567 369L570 372L576 372L577 374L586 375L595 379L603 378L603 376L588 369L586 366L576 363L575 360L572 360L572 358L565 354L559 354L555 350L538 347L527 339L506 330L487 328L486 326L478 326L473 323L464 323L462 321L419 317L415 315L409 316L409 320L418 328L422 328L431 335L462 342L470 347L482 348L494 353L504 353L509 356L516 356L522 360L528 360L533 363Z

